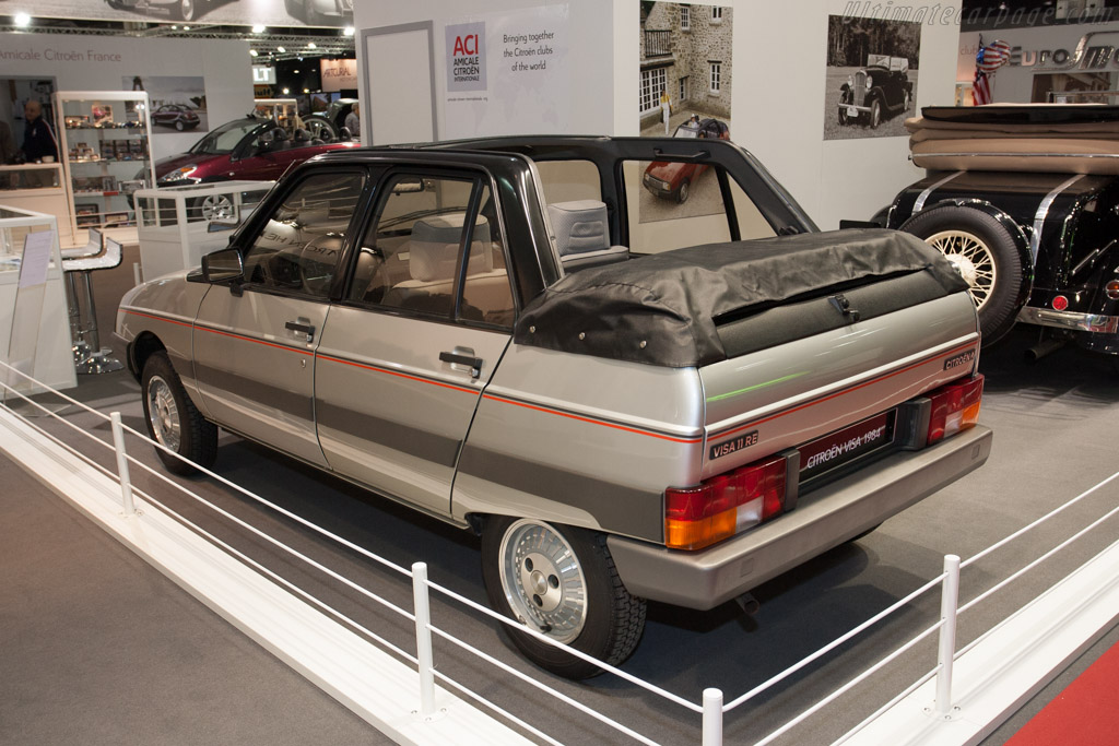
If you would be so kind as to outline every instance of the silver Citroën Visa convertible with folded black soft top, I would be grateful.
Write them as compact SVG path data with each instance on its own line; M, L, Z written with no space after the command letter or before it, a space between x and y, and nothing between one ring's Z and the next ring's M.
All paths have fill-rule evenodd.
M655 159L708 164L717 243L629 218ZM225 428L479 532L514 642L575 678L533 633L619 663L647 599L746 602L990 448L951 265L819 233L718 138L325 153L116 332L160 444L208 466Z

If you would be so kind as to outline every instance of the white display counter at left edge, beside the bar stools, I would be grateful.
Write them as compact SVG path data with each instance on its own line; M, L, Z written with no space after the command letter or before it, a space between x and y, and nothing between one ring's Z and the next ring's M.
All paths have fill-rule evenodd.
M46 276L27 286L26 277L20 283L25 240L28 234L45 230L55 234ZM77 376L57 236L58 220L54 215L16 209L0 201L0 360L63 389L76 386ZM26 295L28 292L30 296ZM28 390L23 379L9 377L9 380L18 389ZM30 393L38 393L38 388L32 387Z

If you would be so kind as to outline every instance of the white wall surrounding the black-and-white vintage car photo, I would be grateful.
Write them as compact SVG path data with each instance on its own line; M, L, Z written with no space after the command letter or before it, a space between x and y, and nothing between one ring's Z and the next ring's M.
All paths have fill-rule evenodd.
M761 159L820 228L838 228L844 218L868 220L924 171L909 161L904 135L822 139L825 116L836 116L824 107L827 22L829 15L841 16L853 8L869 7L867 16L881 18L883 4L739 0L735 12L740 18L743 6L750 9L751 22L735 25L735 142ZM922 106L952 105L960 0L910 8L911 18L923 10L924 19L914 112Z

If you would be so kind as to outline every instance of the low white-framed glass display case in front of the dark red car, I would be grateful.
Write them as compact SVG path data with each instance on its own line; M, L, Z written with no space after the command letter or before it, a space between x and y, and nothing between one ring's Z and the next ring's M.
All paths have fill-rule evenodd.
M201 265L229 243L273 181L217 181L135 193L143 278Z

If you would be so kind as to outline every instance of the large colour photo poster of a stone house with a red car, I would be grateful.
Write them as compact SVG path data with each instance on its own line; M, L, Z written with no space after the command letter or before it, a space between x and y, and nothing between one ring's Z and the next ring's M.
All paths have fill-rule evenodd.
M641 3L641 136L731 139L732 9ZM640 223L715 215L714 173L697 163L652 161L640 170Z

